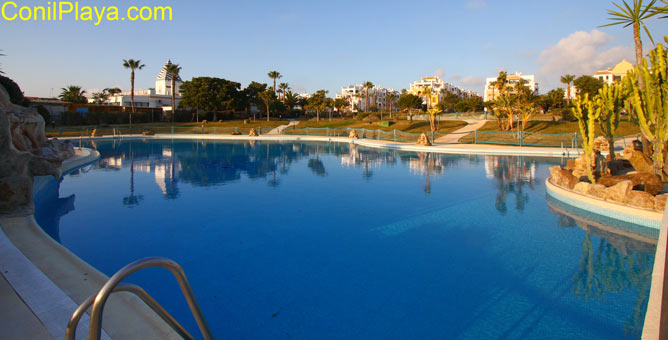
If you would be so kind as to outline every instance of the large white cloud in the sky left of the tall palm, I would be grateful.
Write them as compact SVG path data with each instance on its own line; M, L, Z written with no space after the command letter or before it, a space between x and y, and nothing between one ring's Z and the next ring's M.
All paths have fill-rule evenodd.
M607 47L612 37L599 30L578 31L543 50L538 63L546 76L587 74L619 63L622 59L633 60L634 50L630 46Z

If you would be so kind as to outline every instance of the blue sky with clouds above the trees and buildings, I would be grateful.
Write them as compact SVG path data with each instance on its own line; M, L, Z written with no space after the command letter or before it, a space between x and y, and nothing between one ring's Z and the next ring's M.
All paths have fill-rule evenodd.
M13 0L19 6L44 0ZM630 0L629 0L630 1ZM0 0L4 4L6 0ZM171 59L182 78L213 76L269 83L277 70L298 92L371 81L408 88L439 75L482 92L499 70L535 74L541 92L559 76L592 73L622 58L633 62L630 29L607 23L608 0L524 1L80 1L81 6L171 6L166 22L6 21L0 18L0 59L29 96L56 96L61 87L89 92L129 89L122 60L146 67L135 86L154 86ZM648 21L657 42L668 19ZM643 36L646 47L649 40Z

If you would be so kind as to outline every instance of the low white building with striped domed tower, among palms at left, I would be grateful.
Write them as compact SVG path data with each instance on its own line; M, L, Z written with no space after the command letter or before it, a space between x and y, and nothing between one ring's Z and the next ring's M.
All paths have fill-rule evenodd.
M167 63L165 63L165 66L162 67L162 70L160 70L160 73L155 78L155 88L135 91L135 107L162 108L163 110L171 110L172 76L167 73L167 65L170 65L171 63L172 62L168 60ZM179 87L182 83L183 81L181 80L181 77L178 77L174 86L174 90L176 91L175 102L177 106L181 101ZM110 105L131 107L132 103L130 100L130 92L122 92L109 97L107 103Z

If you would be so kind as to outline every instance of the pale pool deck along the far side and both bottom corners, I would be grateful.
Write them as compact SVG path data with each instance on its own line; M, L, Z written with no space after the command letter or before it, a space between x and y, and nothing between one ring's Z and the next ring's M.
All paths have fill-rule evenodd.
M113 137L95 137L85 138L84 140L109 140ZM118 138L118 137L116 137ZM79 138L73 138L77 140ZM339 142L350 143L371 148L382 148L390 150L413 151L413 152L436 152L450 154L482 154L482 155L526 155L538 157L577 157L580 149L569 148L546 148L546 147L517 147L500 146L488 144L447 144L435 146L420 146L410 143L397 143L392 141L381 141L372 139L350 139L346 137L326 137L326 136L286 136L286 135L262 135L259 137L249 136L228 136L228 135L207 135L207 134L165 134L155 136L130 135L123 136L123 139L206 139L206 140L230 140L230 141L320 141L320 142ZM95 152L95 151L94 151ZM86 164L99 157L99 154L91 153L89 155L79 154L78 157L64 162L63 169L72 169L82 164ZM36 190L40 181L44 178L36 178ZM668 292L662 294L665 289L664 276L666 245L668 235L666 228L668 219L664 214L661 236L657 246L657 257L654 264L652 288L650 302L645 320L643 339L659 339L659 334L668 334L668 327L659 327L659 325L668 325ZM6 235L11 242L11 246L3 247L0 242L0 253L7 248L15 247L27 261L38 271L43 273L41 281L49 280L57 288L66 294L66 298L71 299L72 303L78 304L89 295L97 292L99 287L108 279L107 276L91 267L76 255L63 248L60 244L51 239L37 225L32 216L20 218L0 218L0 236ZM39 304L52 298L43 296L42 301L39 297L35 301L29 301L27 297L21 295L21 286L31 285L30 281L23 283L12 283L16 277L8 279L9 272L5 269L5 264L0 258L0 298L3 303L0 304L0 339L62 339L59 333L64 329L60 325L63 318L69 319L71 313L63 313L59 316L57 323L54 320L40 319L38 309L43 308ZM12 261L20 262L20 261ZM20 267L30 267L25 264ZM16 268L12 269L15 270ZM23 268L25 271L33 271L34 268ZM21 275L18 275L21 276ZM39 276L39 275L36 275ZM32 278L34 279L34 277ZM115 294L116 298L109 300L107 312L105 312L104 330L113 339L135 339L139 334L145 335L143 339L179 339L168 326L160 320L152 311L134 296L127 293ZM61 296L62 298L62 296ZM70 305L71 306L71 305ZM665 306L665 307L664 307ZM662 317L662 314L665 314ZM206 316L205 316L206 317ZM84 323L84 322L82 322ZM54 326L54 324L59 326ZM85 338L85 332L77 333L78 337ZM663 337L661 337L663 338Z

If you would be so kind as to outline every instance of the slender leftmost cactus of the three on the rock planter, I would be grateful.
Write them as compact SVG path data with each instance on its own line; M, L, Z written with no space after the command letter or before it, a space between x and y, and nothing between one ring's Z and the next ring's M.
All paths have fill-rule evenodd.
M578 120L580 133L582 134L582 148L584 149L584 161L587 164L587 177L591 183L596 183L591 165L595 160L594 139L596 138L596 133L594 123L601 114L601 107L589 99L588 93L585 93L573 100L571 111L573 112L573 116Z

